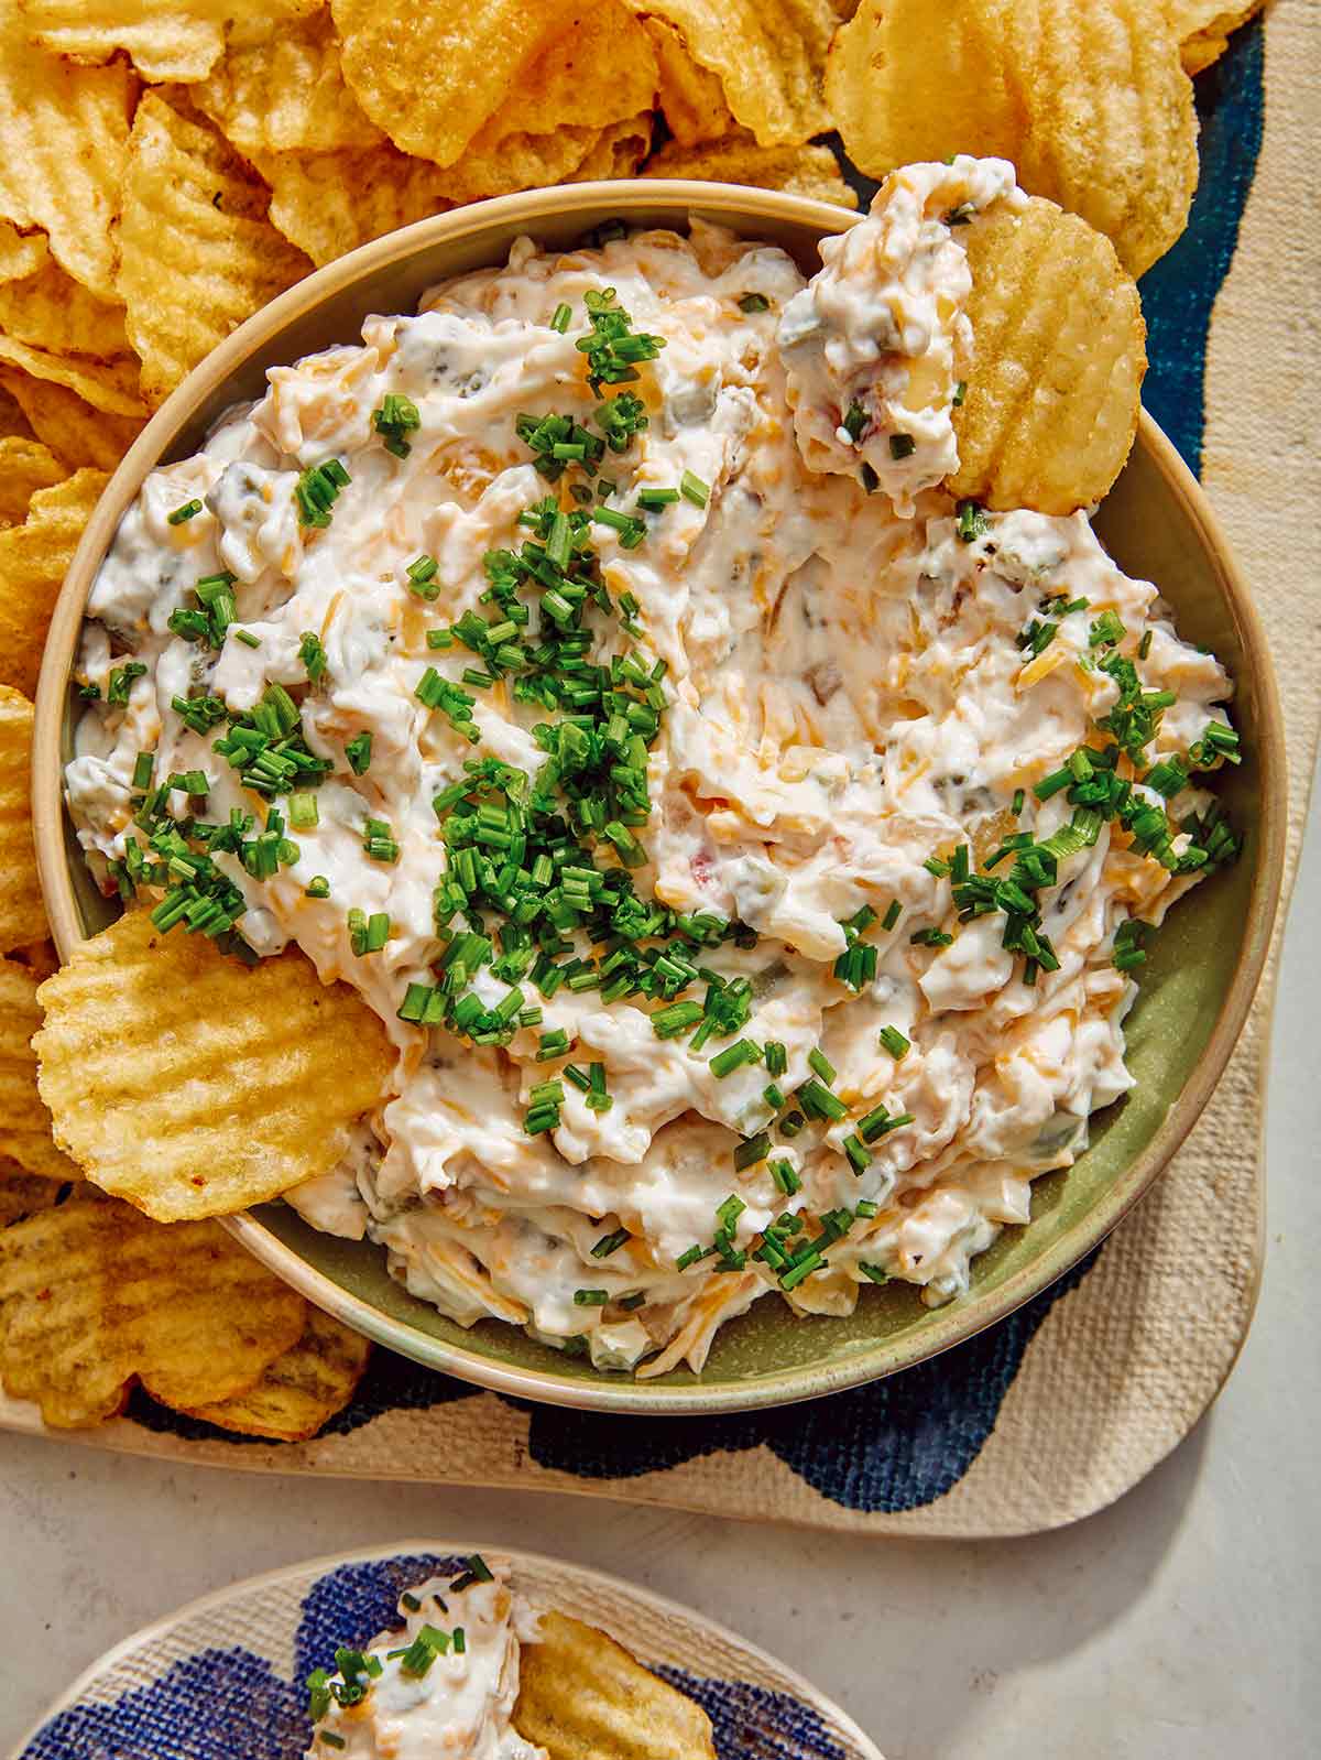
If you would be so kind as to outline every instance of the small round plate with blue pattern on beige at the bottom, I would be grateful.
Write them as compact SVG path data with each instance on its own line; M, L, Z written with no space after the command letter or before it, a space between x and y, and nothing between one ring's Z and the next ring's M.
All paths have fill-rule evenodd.
M719 1760L883 1760L862 1730L765 1651L617 1577L471 1540L417 1540L288 1565L190 1602L93 1663L11 1760L301 1760L308 1674L396 1617L401 1589L470 1552L515 1588L602 1626L695 1698Z

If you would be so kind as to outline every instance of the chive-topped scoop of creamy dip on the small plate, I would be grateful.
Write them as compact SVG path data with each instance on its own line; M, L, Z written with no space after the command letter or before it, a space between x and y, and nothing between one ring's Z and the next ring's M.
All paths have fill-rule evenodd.
M519 1649L536 1616L508 1584L508 1565L468 1559L399 1596L399 1626L366 1649L338 1649L308 1679L306 1760L545 1760L512 1727Z

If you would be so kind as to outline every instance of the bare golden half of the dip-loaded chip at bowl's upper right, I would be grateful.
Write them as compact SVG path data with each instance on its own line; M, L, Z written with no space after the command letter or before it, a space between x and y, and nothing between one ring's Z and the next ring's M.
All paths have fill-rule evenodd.
M1138 426L1147 329L1113 246L1033 197L966 229L967 392L955 495L1071 514L1099 502Z

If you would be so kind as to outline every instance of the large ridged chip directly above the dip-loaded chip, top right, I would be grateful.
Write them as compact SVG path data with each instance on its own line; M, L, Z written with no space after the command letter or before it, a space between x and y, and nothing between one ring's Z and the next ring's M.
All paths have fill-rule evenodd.
M948 153L1010 158L1142 275L1187 225L1193 84L1161 0L864 0L836 37L827 95L869 176Z

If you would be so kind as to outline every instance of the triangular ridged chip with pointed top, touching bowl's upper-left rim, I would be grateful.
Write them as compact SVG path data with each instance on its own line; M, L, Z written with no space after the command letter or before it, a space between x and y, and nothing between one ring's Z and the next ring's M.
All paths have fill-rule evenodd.
M158 93L128 137L118 289L142 357L142 396L164 401L218 341L308 273L266 218L269 192L209 123Z

